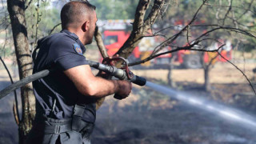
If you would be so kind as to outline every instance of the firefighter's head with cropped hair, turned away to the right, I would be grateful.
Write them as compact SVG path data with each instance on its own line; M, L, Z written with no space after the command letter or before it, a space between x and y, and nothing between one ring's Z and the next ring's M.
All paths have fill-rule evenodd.
M62 29L78 34L80 41L90 44L97 22L95 6L89 2L67 2L61 11Z

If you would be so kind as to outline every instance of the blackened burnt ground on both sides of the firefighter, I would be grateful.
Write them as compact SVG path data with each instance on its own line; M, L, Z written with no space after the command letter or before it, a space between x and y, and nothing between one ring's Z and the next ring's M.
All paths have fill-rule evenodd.
M191 74L198 74L198 71L190 71ZM177 71L178 74L182 72ZM186 74L183 76L187 79ZM227 76L223 76L225 77ZM235 77L237 76L230 76L229 79ZM1 79L5 80L0 82L0 90L10 85L6 76L1 75ZM248 83L217 83L217 80L216 78L210 92L203 91L201 81L193 82L194 79L189 82L178 82L178 89L186 91L188 96L198 95L256 115L256 98ZM151 78L150 81L159 82L158 78ZM0 143L18 143L18 126L12 114L13 101L13 94L0 100ZM135 87L133 94L126 100L106 99L97 111L92 143L254 144L255 132L256 128L252 126L242 126L237 122L228 121L146 87Z

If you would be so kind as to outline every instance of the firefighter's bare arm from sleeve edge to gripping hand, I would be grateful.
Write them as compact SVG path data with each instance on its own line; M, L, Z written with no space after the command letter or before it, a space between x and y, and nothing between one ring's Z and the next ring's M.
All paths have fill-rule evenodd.
M102 98L110 94L122 94L122 91L124 91L123 94L127 94L131 89L130 82L95 77L90 66L87 65L76 66L64 71L64 74L74 82L78 91L85 96ZM127 88L129 90L126 90Z

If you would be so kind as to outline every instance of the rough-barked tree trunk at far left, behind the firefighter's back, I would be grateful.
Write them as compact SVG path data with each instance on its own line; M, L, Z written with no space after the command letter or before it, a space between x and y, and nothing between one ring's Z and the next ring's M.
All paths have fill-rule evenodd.
M15 54L18 62L19 78L26 78L32 74L32 58L27 38L25 1L7 0L7 8L10 14L11 28L13 31ZM35 115L35 99L32 84L21 88L22 94L22 119L19 122L19 143L24 143L26 135L32 127Z

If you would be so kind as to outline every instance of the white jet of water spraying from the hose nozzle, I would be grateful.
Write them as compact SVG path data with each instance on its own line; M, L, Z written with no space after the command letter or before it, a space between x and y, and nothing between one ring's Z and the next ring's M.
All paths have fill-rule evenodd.
M153 82L147 81L146 86L162 94L176 98L181 102L186 102L187 104L190 104L190 106L198 107L201 110L206 110L210 113L217 114L228 121L239 122L243 126L248 126L256 130L256 119L245 112L230 108L229 106L221 105L217 102L210 102L204 98L198 98L191 94L186 94L185 92L174 90L166 86L161 86Z

